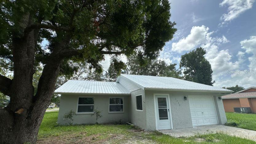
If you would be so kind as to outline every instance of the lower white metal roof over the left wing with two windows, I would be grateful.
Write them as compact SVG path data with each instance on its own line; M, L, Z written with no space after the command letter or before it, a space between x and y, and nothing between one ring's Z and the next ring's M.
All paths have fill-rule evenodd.
M69 80L54 93L97 93L97 94L124 94L130 92L116 82Z

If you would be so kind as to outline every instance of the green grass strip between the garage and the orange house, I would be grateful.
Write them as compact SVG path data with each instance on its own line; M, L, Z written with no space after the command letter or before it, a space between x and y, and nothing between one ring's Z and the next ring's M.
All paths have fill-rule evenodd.
M226 112L227 126L256 130L256 114Z

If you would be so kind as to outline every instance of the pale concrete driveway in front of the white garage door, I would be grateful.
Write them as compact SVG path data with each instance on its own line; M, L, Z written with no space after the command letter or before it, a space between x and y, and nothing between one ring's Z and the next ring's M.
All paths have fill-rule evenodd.
M256 131L246 130L237 127L223 126L223 125L209 125L209 126L197 126L191 128L183 129L173 129L173 130L159 130L163 134L168 134L173 137L189 137L196 134L209 134L216 132L223 132L224 134L229 134L232 136L237 136L241 138L248 138L256 141Z

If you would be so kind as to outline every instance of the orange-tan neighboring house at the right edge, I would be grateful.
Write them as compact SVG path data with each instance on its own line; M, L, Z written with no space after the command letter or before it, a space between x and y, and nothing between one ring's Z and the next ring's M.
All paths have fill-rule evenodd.
M234 112L234 107L250 107L251 112L256 113L256 87L224 95L222 99L226 112Z

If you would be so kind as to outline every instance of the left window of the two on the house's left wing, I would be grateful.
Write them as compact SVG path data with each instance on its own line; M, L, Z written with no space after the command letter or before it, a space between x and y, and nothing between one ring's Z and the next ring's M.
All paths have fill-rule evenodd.
M93 97L79 97L77 113L93 113L94 111L94 98Z

